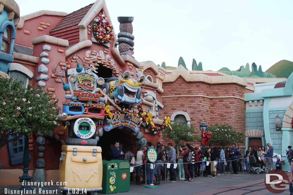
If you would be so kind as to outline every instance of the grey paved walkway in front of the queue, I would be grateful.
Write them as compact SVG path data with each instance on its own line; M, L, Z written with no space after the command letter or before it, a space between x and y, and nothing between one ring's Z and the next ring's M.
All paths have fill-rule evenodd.
M212 177L195 178L192 182L180 181L177 182L165 182L161 181L161 184L156 189L150 189L144 187L144 185L130 185L130 192L123 192L123 195L240 195L240 194L257 194L264 195L270 194L264 184L265 174L249 174L239 173L225 174ZM4 194L4 188L16 190L20 186L0 186L0 194ZM59 188L55 187L42 187L42 190L56 190L57 194L62 194ZM38 191L38 189L36 190ZM36 193L38 194L38 192ZM121 194L121 193L120 193ZM282 194L289 194L289 189Z

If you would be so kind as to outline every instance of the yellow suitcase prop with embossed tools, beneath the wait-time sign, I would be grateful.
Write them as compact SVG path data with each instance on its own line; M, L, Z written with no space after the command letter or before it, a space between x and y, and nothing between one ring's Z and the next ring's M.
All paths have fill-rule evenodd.
M60 182L67 185L60 186L66 191L82 189L86 191L102 190L102 149L99 146L71 146L63 145L60 158Z

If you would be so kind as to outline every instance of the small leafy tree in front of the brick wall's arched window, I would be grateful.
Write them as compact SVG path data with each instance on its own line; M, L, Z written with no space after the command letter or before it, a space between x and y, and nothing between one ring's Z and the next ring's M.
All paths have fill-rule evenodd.
M193 142L200 139L198 136L194 135L196 132L192 126L179 123L174 123L171 126L172 130L168 127L163 131L163 137L174 140L177 152L179 151L179 144L181 141Z

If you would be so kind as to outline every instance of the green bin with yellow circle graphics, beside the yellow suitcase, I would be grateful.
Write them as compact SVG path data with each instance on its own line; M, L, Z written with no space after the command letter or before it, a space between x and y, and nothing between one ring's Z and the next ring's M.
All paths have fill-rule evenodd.
M102 190L99 193L118 193L119 164L116 161L103 161ZM118 177L118 178L117 178Z

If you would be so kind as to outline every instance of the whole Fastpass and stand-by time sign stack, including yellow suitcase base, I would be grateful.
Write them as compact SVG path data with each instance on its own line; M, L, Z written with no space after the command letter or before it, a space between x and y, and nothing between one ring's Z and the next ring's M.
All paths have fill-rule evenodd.
M65 66L63 72L69 84L62 81L64 91L70 90L63 101L63 128L68 129L68 137L62 146L60 157L60 182L67 182L60 186L63 194L87 193L97 194L102 190L102 149L97 145L99 137L97 128L103 124L105 100L102 94L96 94L96 88L101 88L104 79L98 77L95 67L86 69L81 58L76 56L76 68ZM80 59L84 68L79 66ZM56 71L56 70L55 70ZM54 70L53 70L54 72ZM78 192L77 192L78 191Z

